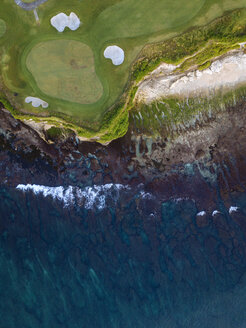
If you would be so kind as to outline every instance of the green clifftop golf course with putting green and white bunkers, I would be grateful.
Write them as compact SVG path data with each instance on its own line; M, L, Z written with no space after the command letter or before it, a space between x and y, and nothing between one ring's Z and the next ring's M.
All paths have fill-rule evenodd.
M244 7L242 0L47 0L33 11L2 0L1 99L20 119L110 141L127 131L132 67L146 45L151 56L155 44Z

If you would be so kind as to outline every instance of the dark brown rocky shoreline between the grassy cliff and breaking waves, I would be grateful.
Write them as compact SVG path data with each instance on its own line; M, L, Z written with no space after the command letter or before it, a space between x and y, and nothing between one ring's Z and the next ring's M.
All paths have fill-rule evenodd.
M53 186L143 184L163 198L189 195L209 203L218 184L224 195L246 186L245 110L242 102L204 117L173 139L137 134L130 124L123 138L103 146L81 142L75 134L50 144L2 108L1 181L13 187L23 182Z

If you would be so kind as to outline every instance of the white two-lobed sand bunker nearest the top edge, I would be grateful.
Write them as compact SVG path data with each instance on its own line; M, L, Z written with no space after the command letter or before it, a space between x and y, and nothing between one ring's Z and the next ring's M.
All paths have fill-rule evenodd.
M70 28L72 31L75 31L80 27L80 19L75 13L71 13L69 16L60 13L52 17L50 23L58 32L63 32L65 27Z

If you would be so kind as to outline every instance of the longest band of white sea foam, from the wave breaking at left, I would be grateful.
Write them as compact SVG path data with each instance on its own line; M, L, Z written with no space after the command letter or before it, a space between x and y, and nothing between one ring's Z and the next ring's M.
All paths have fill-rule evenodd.
M102 210L105 208L107 200L117 201L121 190L130 189L127 185L113 183L94 185L84 189L72 186L64 188L62 186L48 187L35 184L19 184L16 188L23 192L33 192L35 195L50 196L54 200L63 202L65 207L77 204L88 210L93 208Z

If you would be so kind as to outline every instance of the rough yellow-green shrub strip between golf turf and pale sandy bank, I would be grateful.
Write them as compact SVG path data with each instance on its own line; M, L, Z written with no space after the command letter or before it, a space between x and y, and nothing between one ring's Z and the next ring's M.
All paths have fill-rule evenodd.
M132 80L140 81L161 62L180 64L181 69L202 65L206 61L235 49L246 40L246 10L236 10L211 24L154 45L147 45L133 66ZM202 49L202 50L200 50Z

